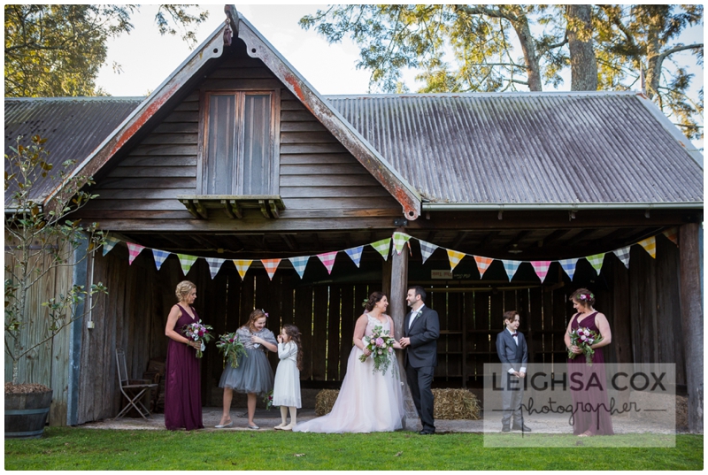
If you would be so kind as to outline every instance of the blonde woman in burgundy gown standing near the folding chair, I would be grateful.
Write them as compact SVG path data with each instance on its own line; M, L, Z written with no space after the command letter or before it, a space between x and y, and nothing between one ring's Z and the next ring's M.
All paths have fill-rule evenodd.
M204 429L199 360L196 358L196 349L201 343L182 334L182 327L199 321L192 308L196 286L183 280L177 284L174 293L180 302L170 310L165 326L165 335L170 338L165 362L165 426L171 431L181 427L188 431Z

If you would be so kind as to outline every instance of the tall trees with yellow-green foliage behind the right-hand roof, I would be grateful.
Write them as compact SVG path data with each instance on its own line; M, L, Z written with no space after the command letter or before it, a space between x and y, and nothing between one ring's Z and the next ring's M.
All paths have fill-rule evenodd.
M371 87L405 92L407 69L419 92L541 91L571 72L572 90L640 88L682 127L703 135L703 88L673 55L703 66L703 43L679 35L703 24L702 5L331 5L300 19L329 42L350 36Z

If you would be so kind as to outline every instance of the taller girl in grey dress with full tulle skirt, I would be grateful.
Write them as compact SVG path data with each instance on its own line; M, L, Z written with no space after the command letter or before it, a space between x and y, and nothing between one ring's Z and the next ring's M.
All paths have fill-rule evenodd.
M233 391L248 395L249 429L258 429L253 422L256 414L257 395L266 395L273 389L273 369L268 362L266 350L277 351L273 332L266 328L268 314L264 310L253 310L246 325L236 330L239 341L246 349L246 357L239 359L238 367L230 364L221 373L219 387L224 388L224 411L217 429L233 425L229 410Z

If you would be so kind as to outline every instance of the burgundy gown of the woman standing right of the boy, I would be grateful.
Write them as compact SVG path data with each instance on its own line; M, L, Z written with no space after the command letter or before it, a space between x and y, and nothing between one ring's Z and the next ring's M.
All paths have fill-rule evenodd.
M595 325L596 315L597 312L583 318L580 326L589 328L599 335L600 331ZM578 326L578 318L575 316L571 324L571 330L576 330ZM583 387L580 390L573 391L573 386L577 387L577 385L573 384L573 372L580 372L582 375ZM573 434L580 435L587 431L592 435L612 435L614 431L612 431L610 402L607 396L607 383L604 374L603 349L595 350L595 354L592 356L592 366L587 364L585 355L581 354L572 359L568 358L568 375L571 378L573 410L576 410L573 418ZM602 388L594 384L596 381L601 382ZM593 384L589 384L590 382Z

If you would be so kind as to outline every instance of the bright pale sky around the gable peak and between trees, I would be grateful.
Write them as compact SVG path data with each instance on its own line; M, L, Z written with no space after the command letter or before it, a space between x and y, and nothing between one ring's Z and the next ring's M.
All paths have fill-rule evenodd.
M304 15L315 13L318 8L326 6L236 4L237 10L320 94L366 94L370 73L356 69L358 47L354 42L344 38L342 42L330 45L313 29L305 31L297 23ZM210 15L196 30L197 45L226 19L223 4L202 7L210 11ZM179 36L161 36L158 33L154 22L157 9L157 5L142 5L141 13L133 18L133 32L108 42L107 65L99 73L96 84L111 96L146 96L189 56L191 51ZM687 44L703 42L703 37L704 28L700 26L691 28L681 40ZM681 63L683 55L688 57L689 53L674 54L672 60ZM113 62L121 65L122 73L113 72ZM695 63L695 60L691 63ZM695 66L689 72L696 74L693 88L697 90L703 87L703 70ZM569 73L566 74L565 84L558 90L570 89ZM412 91L416 90L412 73L404 75L404 80ZM552 89L546 87L546 90ZM696 142L696 146L702 148L703 141Z

